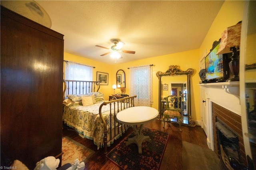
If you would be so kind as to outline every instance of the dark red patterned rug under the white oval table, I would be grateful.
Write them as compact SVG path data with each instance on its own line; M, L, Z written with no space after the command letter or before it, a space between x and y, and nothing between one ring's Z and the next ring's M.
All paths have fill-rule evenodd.
M142 154L138 154L138 146L136 144L132 143L128 146L125 144L128 138L135 136L133 132L124 138L106 156L123 169L157 170L164 154L169 134L146 127L143 127L142 134L144 136L150 136L152 140L152 142L142 143Z

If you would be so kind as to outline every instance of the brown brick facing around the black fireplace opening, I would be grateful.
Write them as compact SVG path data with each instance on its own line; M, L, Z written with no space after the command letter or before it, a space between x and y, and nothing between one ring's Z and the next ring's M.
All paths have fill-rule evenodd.
M214 142L214 148L215 148L214 151L220 157L221 149L220 149L220 146L218 145L218 140L220 139L217 134L218 128L216 127L216 122L218 120L220 120L220 122L223 122L224 125L226 125L231 131L233 131L235 136L238 138L237 145L239 150L239 161L240 163L247 165L243 133L242 133L241 116L212 102L212 125L213 125L212 127L213 127L213 142Z

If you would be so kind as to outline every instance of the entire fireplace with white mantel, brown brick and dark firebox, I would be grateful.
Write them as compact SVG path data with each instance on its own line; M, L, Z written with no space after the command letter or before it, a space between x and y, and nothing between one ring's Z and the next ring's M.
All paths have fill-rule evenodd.
M250 154L250 145L246 132L243 133L242 130L246 126L244 125L244 117L241 117L244 112L242 112L240 103L239 85L239 82L235 81L200 84L200 99L202 100L200 107L202 113L201 126L206 133L208 147L219 157L223 157L222 150L225 154L230 154L224 154L224 158L228 159L226 162L230 163L231 161L232 167L234 165L239 166L239 168L233 169L240 170L249 166L246 159L248 155L246 157L246 154ZM216 121L219 121L219 123L216 123ZM224 133L221 132L223 129L226 130L224 130ZM228 132L228 135L225 132ZM218 140L218 138L221 140ZM236 158L234 159L233 156ZM220 162L223 162L222 157L220 157ZM232 169L225 167L224 169Z

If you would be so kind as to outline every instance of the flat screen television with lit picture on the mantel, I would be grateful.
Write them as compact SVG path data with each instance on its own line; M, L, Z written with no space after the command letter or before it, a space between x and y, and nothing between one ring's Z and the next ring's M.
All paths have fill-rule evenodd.
M205 57L205 83L226 81L229 78L228 54L219 54L220 41L212 48Z

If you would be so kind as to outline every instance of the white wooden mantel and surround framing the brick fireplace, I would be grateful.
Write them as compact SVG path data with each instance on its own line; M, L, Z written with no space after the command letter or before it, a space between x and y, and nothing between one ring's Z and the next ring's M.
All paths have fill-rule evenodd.
M206 99L206 136L208 147L214 151L213 126L212 126L212 102L241 116L239 97L239 82L204 83L200 84L204 89ZM202 107L201 107L202 108Z

